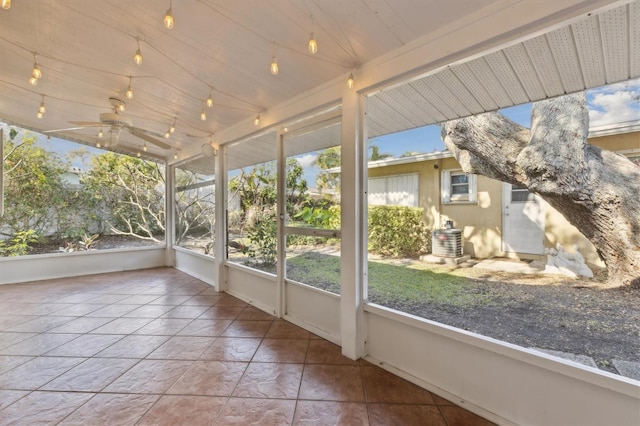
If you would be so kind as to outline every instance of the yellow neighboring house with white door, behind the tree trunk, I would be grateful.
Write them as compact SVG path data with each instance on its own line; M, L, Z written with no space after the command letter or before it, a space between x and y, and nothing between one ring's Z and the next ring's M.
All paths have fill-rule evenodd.
M589 142L640 158L640 122L591 129ZM577 244L587 262L604 266L593 245L554 208L525 188L465 174L445 150L369 163L369 204L419 206L432 229L453 220L463 252L477 258L543 259L544 249Z

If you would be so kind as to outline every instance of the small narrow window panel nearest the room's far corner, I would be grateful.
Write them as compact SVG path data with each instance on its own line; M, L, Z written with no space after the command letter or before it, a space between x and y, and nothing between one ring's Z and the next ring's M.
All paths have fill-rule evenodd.
M206 161L203 161L206 160ZM176 245L213 256L215 175L211 158L176 167Z

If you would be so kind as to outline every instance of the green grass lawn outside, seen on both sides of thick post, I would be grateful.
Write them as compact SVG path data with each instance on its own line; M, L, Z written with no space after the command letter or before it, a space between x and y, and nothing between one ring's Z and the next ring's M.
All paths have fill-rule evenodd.
M369 300L373 303L490 303L480 282L457 276L446 267L419 261L370 260L368 269ZM291 256L287 259L287 278L340 293L340 258L312 252Z

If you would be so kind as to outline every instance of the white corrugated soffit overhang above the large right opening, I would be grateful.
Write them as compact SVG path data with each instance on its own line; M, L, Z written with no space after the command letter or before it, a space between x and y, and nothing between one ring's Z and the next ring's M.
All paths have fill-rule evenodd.
M630 3L373 95L368 136L640 77L639 22Z

